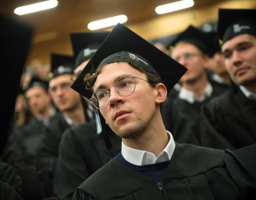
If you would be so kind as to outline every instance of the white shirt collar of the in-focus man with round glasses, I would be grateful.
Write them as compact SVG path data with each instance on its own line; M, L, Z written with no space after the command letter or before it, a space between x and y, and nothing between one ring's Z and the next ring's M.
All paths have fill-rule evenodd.
M172 134L169 131L166 132L167 134L169 134L170 140L162 153L159 154L157 157L151 152L127 147L122 142L122 155L124 159L126 159L126 161L128 161L129 163L140 166L170 161L173 151L175 149L175 142L173 140Z

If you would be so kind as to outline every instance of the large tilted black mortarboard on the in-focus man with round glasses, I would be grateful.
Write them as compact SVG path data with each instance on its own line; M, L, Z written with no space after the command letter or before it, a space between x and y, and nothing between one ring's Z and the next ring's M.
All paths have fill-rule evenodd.
M111 57L109 57L109 55L111 55ZM119 61L127 59L127 56L137 59L139 65L146 71L151 74L157 73L161 76L167 91L170 91L187 71L187 68L173 60L169 55L158 50L153 44L150 44L129 28L118 23L71 87L84 97L90 99L92 93L91 91L85 90L84 76L87 73L94 73L103 59L105 59L105 63L109 63L109 60L113 59L115 56L120 58ZM121 58L121 56L124 58Z

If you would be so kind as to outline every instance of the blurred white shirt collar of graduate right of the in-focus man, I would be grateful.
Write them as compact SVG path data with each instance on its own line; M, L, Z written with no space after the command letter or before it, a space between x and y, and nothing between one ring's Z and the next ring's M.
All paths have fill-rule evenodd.
M202 102L207 97L211 97L212 92L213 92L212 85L208 82L204 88L204 93L200 98L197 98L193 92L185 89L184 87L181 87L181 89L180 89L179 98L192 104L195 101Z

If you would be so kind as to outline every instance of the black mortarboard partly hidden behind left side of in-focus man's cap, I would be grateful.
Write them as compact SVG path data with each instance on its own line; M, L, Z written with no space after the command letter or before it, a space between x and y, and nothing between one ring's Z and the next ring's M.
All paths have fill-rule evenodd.
M108 31L70 33L75 58L75 68L94 55L108 34Z

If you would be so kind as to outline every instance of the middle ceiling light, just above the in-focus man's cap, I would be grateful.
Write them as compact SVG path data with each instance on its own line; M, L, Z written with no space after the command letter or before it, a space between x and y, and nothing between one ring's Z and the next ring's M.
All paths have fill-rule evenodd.
M100 28L115 26L115 25L117 25L117 23L124 23L126 21L127 21L126 15L122 14L122 15L118 15L118 16L115 16L115 17L111 17L111 18L92 21L92 22L88 23L87 27L90 30L97 30L97 29L100 29Z

